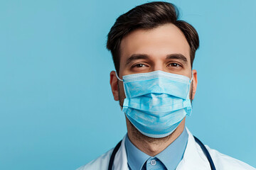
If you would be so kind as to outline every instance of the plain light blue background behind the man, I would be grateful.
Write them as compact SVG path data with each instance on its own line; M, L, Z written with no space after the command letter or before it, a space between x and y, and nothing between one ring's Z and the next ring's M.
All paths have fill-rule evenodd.
M146 1L0 1L0 169L76 169L126 133L105 48ZM256 166L256 1L174 0L200 35L189 130Z

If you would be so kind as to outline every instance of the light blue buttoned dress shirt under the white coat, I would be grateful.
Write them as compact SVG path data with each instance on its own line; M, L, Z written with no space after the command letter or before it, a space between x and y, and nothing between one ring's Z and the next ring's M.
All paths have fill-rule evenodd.
M129 169L132 170L156 170L167 169L174 170L181 162L183 154L188 142L188 132L184 128L179 137L174 140L166 149L157 154L155 157L150 157L137 147L135 147L129 140L127 135L125 140L125 149L127 151L127 161Z

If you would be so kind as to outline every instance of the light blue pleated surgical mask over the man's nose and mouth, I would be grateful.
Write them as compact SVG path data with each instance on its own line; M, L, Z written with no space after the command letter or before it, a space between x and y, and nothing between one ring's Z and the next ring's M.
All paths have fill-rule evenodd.
M143 135L166 137L191 115L192 79L188 77L155 71L125 75L119 80L126 96L122 111Z

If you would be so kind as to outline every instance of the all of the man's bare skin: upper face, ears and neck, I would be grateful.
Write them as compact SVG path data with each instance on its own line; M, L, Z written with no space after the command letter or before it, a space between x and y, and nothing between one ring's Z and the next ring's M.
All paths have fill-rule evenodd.
M174 24L168 23L150 30L134 30L125 36L120 44L119 78L127 74L154 72L161 70L181 74L191 79L191 100L196 94L197 72L191 68L190 47L188 42ZM114 71L110 73L110 85L115 101L122 106L125 94L122 81ZM181 135L185 119L169 136L162 138L146 137L126 118L129 140L142 152L154 157L168 147Z

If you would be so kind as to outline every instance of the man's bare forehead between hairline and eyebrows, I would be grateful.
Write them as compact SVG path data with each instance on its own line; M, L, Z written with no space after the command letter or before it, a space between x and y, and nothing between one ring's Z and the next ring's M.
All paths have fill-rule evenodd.
M174 53L180 53L190 61L190 46L186 37L171 23L153 29L134 30L120 44L120 61L134 54L166 56Z

